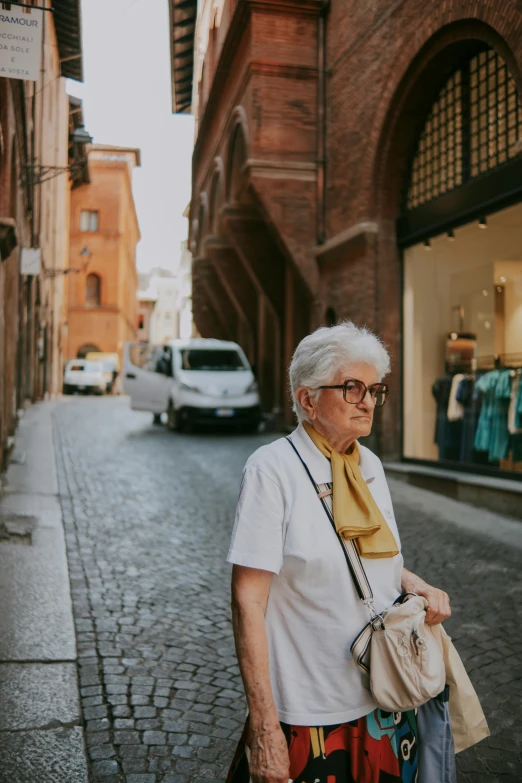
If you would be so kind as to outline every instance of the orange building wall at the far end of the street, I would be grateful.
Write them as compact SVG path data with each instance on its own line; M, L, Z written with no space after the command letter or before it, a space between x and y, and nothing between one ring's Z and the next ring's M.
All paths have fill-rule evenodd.
M137 337L136 245L140 234L132 196L130 160L113 160L114 151L94 149L89 155L91 182L71 192L66 359L74 359L87 344L106 353L123 353L127 340ZM122 150L122 156L124 151ZM80 231L82 210L99 212L98 231ZM82 256L87 247L90 257ZM89 258L86 269L75 273ZM86 305L87 276L101 280L99 307Z

